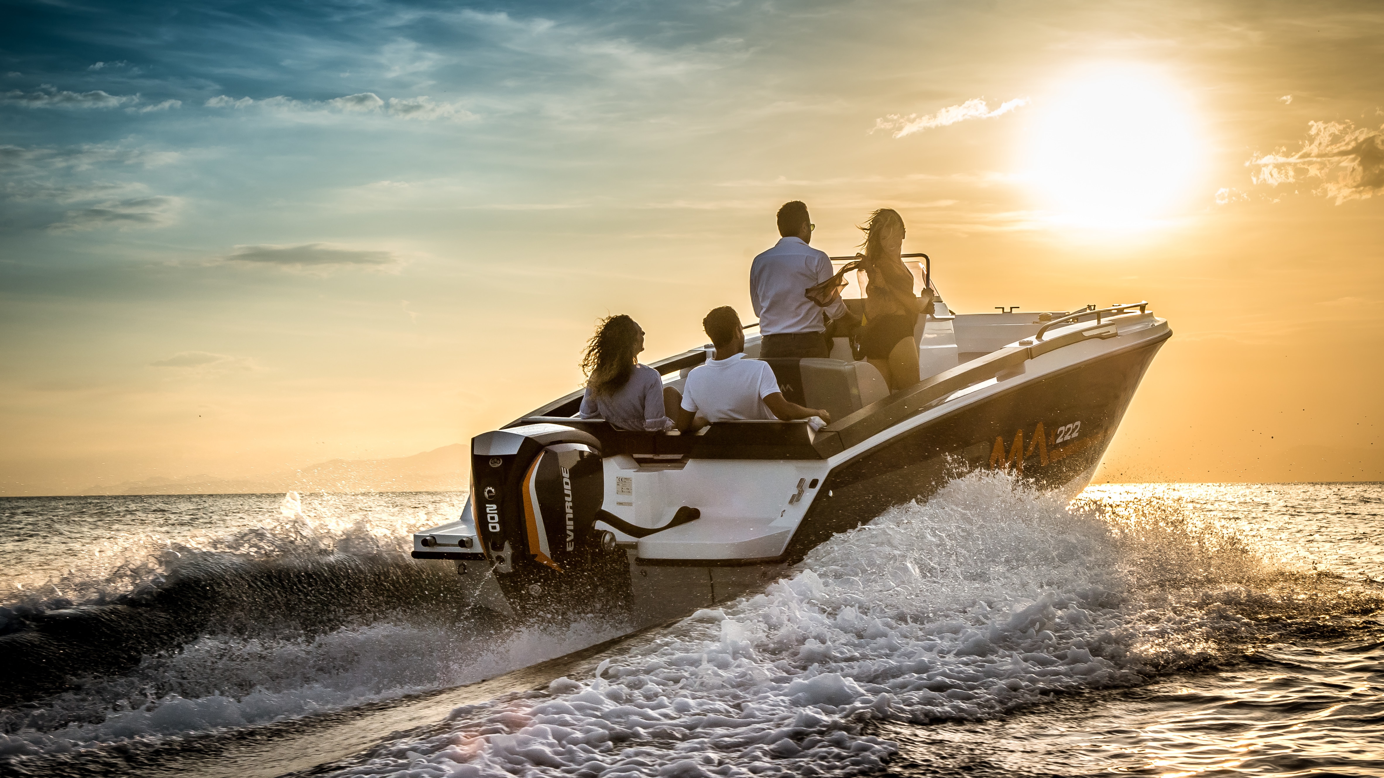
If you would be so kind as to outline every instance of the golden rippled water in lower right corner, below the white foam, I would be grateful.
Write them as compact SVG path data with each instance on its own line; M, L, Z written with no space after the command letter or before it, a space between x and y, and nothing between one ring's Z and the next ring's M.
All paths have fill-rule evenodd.
M880 734L902 775L1384 775L1381 659L1380 642L1283 645L1003 720Z

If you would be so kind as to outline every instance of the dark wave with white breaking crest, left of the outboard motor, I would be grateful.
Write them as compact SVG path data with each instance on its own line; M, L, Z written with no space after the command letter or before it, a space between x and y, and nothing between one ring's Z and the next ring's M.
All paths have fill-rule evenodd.
M89 689L91 678L163 663L184 645L205 644L202 635L311 642L379 619L426 622L421 615L437 613L439 602L469 599L450 569L408 559L407 534L392 526L397 518L343 521L331 505L318 511L304 515L289 494L268 521L219 536L125 533L115 541L125 551L119 563L102 565L98 548L84 559L89 577L62 576L62 588L83 592L80 602L32 594L8 602L0 608L0 664L14 674L0 703ZM50 579L47 588L58 586Z

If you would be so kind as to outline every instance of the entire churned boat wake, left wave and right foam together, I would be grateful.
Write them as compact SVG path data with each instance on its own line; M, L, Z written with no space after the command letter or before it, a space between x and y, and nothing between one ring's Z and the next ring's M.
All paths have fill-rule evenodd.
M895 753L882 721L984 720L1142 685L1295 630L1348 631L1384 604L1369 581L1266 561L1175 500L1086 494L973 472L829 540L760 594L623 645L592 677L459 707L340 772L865 772ZM390 540L397 511L332 523L292 503L271 505L278 523L163 554L123 594L11 602L0 660L42 682L6 687L0 759L43 772L349 712L626 630L440 609L469 592Z

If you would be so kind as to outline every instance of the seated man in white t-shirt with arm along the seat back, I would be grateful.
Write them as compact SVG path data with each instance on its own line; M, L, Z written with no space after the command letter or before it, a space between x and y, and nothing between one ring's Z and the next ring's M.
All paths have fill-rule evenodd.
M722 306L706 314L702 328L711 338L716 354L688 374L678 429L691 428L698 415L713 422L811 417L832 422L832 415L822 408L804 408L785 400L770 363L745 359L745 328L734 307Z

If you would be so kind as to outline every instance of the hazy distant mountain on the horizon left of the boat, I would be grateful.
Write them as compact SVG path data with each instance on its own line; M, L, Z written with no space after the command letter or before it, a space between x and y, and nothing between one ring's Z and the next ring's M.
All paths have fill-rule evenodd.
M296 471L255 478L154 476L80 494L266 494L274 491L457 491L466 489L466 447L461 443L393 460L328 460Z

